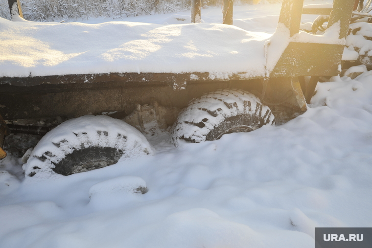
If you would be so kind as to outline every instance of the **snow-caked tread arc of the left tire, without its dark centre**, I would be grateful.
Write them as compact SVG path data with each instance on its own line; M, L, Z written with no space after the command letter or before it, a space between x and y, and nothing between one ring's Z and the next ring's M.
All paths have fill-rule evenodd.
M52 168L67 154L88 147L112 147L127 158L154 154L153 147L134 127L105 115L70 119L49 131L35 146L23 170L32 178L58 177ZM44 161L43 161L44 160Z

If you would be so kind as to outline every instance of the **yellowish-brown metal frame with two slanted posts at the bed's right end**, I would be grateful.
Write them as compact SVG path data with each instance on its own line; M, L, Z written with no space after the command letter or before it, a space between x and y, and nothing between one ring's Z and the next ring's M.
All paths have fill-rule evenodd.
M354 0L335 0L333 3L327 27L339 22L339 39L346 38L348 34L354 2ZM289 29L291 37L299 32L302 5L303 0L283 0L279 23L283 23ZM301 87L298 78L311 76L307 86L302 83L302 93L305 93L305 96L303 94L298 96L305 99L306 103L310 103L319 76L336 76L340 72L343 52L344 45L290 42L277 65L270 72L270 77L289 77L296 87ZM273 87L273 84L268 87ZM277 94L280 94L280 90Z

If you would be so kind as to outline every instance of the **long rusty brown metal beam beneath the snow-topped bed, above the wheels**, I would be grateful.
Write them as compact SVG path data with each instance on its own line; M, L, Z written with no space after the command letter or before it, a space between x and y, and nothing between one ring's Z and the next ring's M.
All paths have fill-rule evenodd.
M184 108L192 98L218 89L261 91L259 79L227 81L187 81L183 90L173 82L97 82L43 84L29 87L0 85L0 114L6 120L55 116L78 117L85 114L120 111L126 114L136 104Z

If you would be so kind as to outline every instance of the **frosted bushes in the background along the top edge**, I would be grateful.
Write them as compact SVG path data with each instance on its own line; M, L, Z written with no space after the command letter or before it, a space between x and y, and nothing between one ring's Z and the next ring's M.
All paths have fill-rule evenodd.
M238 0L235 4L256 4L280 0ZM202 6L221 6L223 0L202 0ZM190 10L191 0L21 0L28 21L74 21L107 17L173 13ZM0 17L10 20L7 0L0 0Z

